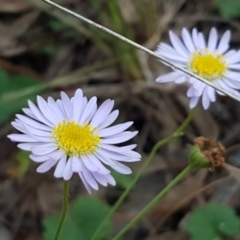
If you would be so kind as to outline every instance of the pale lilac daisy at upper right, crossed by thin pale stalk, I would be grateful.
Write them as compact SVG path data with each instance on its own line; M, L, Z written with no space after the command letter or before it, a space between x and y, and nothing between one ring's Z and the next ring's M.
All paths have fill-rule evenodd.
M170 31L172 46L160 43L155 53L239 97L237 90L240 89L240 50L228 50L230 35L228 30L218 41L217 30L212 28L206 41L203 34L195 28L192 33L183 28L182 40L180 40ZM159 83L183 83L185 81L190 83L191 86L187 91L190 108L195 107L202 97L202 105L204 109L207 109L210 102L215 102L216 92L224 95L194 77L176 70L159 76L156 81Z

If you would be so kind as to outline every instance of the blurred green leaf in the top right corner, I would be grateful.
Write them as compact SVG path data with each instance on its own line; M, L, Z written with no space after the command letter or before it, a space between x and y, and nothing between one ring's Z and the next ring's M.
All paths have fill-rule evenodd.
M214 0L220 14L225 18L240 16L240 1L238 0Z

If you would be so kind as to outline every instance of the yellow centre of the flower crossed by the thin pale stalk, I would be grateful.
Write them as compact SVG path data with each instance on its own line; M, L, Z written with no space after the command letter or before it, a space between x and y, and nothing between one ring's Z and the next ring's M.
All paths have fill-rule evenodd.
M206 54L195 52L189 65L194 73L210 81L223 76L227 70L224 57L221 54L209 54L207 50Z

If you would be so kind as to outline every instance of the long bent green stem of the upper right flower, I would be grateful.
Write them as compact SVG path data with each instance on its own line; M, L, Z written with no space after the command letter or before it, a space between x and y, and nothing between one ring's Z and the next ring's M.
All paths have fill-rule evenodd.
M146 162L143 164L142 168L140 169L140 171L138 172L138 174L135 176L135 178L133 179L133 181L131 182L131 184L128 186L128 188L126 188L126 190L124 191L124 193L121 195L121 197L118 199L118 201L115 203L115 205L111 208L111 211L108 213L108 215L106 215L106 217L103 219L103 221L100 223L100 225L98 226L97 230L95 231L95 233L93 234L91 240L97 240L98 239L98 235L100 230L105 226L105 224L107 224L108 220L112 217L112 215L116 212L116 210L118 209L118 207L121 205L121 203L124 201L124 199L127 197L127 195L129 194L129 192L133 189L133 187L136 185L137 181L140 179L140 177L142 176L142 174L145 172L145 170L148 168L149 164L151 163L151 161L153 160L156 152L159 150L160 147L162 147L163 145L169 143L171 140L178 138L180 136L182 136L182 132L183 130L188 126L188 124L191 122L191 120L193 119L195 115L195 109L191 110L191 112L189 113L188 117L185 119L185 121L181 124L181 126L169 137L164 138L163 140L157 142L154 147L152 148L152 151L148 157L148 159L146 160Z

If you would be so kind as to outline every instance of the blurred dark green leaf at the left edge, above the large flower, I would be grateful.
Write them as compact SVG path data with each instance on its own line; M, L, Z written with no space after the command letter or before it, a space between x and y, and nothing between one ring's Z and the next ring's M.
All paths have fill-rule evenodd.
M28 99L34 99L44 84L33 77L9 75L0 69L0 121L7 120L12 114L27 105Z

